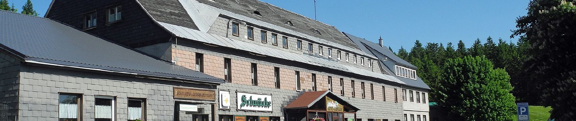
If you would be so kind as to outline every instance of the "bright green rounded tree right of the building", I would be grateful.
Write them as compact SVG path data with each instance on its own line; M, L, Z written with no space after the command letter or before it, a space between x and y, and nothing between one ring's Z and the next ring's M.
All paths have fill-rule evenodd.
M448 120L514 120L509 76L484 56L449 59L433 90Z

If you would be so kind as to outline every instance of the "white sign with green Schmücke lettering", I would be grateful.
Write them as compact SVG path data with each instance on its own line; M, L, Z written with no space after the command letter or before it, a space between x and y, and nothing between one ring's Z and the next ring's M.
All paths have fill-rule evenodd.
M272 95L236 92L239 110L272 111Z

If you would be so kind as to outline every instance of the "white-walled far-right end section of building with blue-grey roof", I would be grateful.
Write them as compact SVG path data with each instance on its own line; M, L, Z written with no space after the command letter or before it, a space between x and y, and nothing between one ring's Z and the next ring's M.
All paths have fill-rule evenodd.
M406 83L402 86L402 99L404 118L407 121L427 121L430 119L430 108L428 105L428 92L430 87L416 75L416 66L406 60L396 56L390 49L384 46L384 41L380 37L378 44L367 41L363 38L344 33L358 47L366 53L372 53L378 58L382 65L382 73L395 76Z

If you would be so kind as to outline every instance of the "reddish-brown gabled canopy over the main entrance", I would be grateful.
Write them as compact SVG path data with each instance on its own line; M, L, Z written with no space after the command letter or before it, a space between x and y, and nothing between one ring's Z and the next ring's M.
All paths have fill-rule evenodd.
M331 91L305 92L285 107L287 110L318 110L330 112L356 112L360 109Z

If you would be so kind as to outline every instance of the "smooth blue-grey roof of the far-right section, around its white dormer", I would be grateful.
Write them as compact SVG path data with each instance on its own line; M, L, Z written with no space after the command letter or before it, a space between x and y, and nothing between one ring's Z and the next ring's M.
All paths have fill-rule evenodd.
M361 50L363 50L366 53L372 53L372 54L374 54L374 56L376 56L378 58L381 58L382 56L386 56L390 60L395 61L396 63L400 63L401 65L406 65L408 67L416 68L414 65L408 63L406 60L403 60L400 57L396 56L394 53L392 53L390 51L390 49L381 47L380 44L376 44L374 42L370 42L370 41L365 40L363 38L353 36L352 34L348 34L348 33L344 33L344 34L348 38L350 38L350 40L352 40L355 44L357 44L358 48L360 48ZM376 51L377 53L375 53L374 51ZM380 55L378 55L378 54L380 54ZM380 65L394 66L392 64L386 65L386 64L384 64L384 61L380 61ZM383 69L383 71L385 71L384 72L385 74L395 76L397 79L406 83L406 85L408 85L410 87L430 89L430 87L426 83L424 83L424 81L422 81L422 79L420 79L420 77L416 76L416 80L414 80L414 79L408 79L406 77L396 76L396 74L390 68L394 68L394 67L381 67L381 69Z

